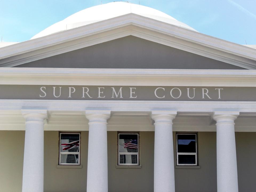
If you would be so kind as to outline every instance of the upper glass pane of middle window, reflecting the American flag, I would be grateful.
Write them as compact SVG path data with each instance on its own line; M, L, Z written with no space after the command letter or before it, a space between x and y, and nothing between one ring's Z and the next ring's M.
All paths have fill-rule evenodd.
M138 152L138 135L119 134L119 152Z

